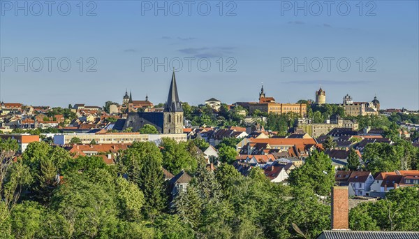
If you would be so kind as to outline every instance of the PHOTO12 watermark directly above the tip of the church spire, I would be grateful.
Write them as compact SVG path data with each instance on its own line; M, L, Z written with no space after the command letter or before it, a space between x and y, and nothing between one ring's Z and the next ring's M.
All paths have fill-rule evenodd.
M141 72L145 71L200 71L207 72L214 69L219 72L234 73L237 59L234 57L219 57L210 59L206 57L141 57Z

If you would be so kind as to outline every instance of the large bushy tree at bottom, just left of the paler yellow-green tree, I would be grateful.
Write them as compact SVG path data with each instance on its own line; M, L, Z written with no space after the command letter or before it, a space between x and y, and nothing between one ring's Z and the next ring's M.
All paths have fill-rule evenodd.
M115 178L104 169L74 173L52 197L52 208L64 217L68 238L112 237L119 209Z

